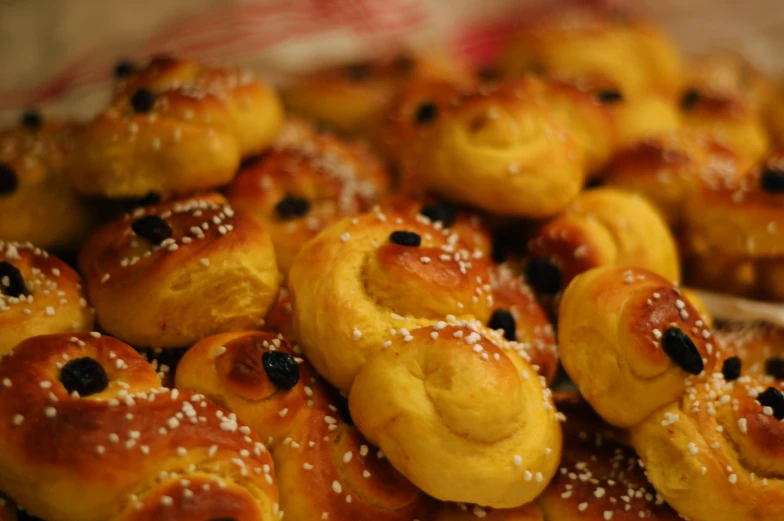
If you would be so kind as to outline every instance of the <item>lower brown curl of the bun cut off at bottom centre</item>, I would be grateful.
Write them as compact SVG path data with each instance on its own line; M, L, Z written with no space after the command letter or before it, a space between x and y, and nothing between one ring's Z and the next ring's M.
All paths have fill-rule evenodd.
M285 519L427 519L424 494L336 412L307 409L293 427L273 451Z

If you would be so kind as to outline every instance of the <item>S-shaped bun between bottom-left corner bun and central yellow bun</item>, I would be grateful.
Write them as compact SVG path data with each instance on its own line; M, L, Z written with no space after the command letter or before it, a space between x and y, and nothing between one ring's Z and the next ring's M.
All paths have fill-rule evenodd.
M185 354L177 387L269 440L286 519L426 519L422 494L346 423L295 349L271 333L215 335Z

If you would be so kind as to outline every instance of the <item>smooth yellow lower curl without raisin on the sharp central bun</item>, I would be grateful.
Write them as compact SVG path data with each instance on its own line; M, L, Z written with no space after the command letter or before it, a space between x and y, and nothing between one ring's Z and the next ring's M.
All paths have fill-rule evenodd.
M561 429L544 378L483 332L435 325L397 335L359 371L349 408L427 494L512 508L555 473Z

